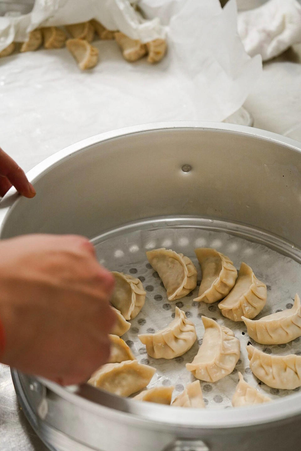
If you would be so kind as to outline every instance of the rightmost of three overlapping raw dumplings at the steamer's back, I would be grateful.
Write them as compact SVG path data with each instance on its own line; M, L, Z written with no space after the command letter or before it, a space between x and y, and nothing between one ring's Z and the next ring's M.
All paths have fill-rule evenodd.
M266 298L266 285L255 277L246 263L242 263L234 288L219 303L219 309L232 321L242 321L242 316L252 319L265 307Z

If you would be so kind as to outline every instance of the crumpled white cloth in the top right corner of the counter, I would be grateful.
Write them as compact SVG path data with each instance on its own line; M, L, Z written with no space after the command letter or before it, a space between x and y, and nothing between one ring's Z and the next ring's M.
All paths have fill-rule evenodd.
M237 29L250 56L270 60L301 42L301 5L296 0L269 0L239 13Z

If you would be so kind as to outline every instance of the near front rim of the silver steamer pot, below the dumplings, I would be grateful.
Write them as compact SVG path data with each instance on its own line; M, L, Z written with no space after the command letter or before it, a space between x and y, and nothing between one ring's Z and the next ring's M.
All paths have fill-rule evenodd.
M144 427L157 430L166 427L174 430L265 427L271 423L301 415L301 394L290 395L271 403L236 409L188 409L171 408L169 405L151 402L141 403L141 401L112 395L87 384L66 388L44 378L38 377L37 380L59 397L83 410L136 426L139 422ZM90 399L87 399L87 394ZM101 404L91 399L101 400Z

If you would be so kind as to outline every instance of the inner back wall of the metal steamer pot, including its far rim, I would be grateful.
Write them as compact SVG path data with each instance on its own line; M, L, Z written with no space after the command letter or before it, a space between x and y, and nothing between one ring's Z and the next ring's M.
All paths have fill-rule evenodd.
M56 153L28 173L38 194L31 201L16 200L9 221L2 223L2 238L32 231L73 231L93 238L119 226L121 216L126 223L181 214L235 219L301 245L300 143L249 127L199 126L180 122L129 127ZM183 163L193 170L183 173ZM50 191L57 202L44 201ZM120 193L128 199L126 205ZM5 203L12 200L8 195L2 201L0 220L8 212ZM78 209L85 214L78 215Z

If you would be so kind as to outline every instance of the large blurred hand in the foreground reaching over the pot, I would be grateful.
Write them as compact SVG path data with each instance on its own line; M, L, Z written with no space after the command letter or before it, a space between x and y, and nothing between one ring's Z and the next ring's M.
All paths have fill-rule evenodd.
M0 362L63 385L87 380L109 358L113 287L86 238L0 241Z

